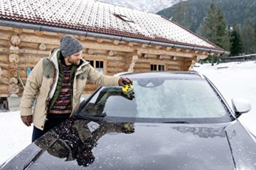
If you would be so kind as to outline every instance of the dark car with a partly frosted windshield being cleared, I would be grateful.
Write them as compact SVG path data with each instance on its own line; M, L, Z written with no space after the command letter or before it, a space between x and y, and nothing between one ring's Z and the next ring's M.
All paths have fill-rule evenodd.
M101 86L79 111L1 169L256 169L255 136L203 74L122 73L127 87Z

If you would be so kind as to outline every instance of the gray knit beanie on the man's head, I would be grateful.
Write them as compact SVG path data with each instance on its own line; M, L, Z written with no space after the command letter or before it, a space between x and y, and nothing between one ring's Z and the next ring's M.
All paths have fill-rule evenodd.
M70 35L65 35L60 38L60 51L64 57L67 57L82 51L82 45L77 39Z

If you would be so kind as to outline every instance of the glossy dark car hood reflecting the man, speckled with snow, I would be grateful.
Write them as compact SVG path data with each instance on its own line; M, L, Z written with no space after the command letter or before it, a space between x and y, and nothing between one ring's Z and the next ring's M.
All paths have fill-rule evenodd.
M3 169L256 169L255 139L233 123L68 120Z

